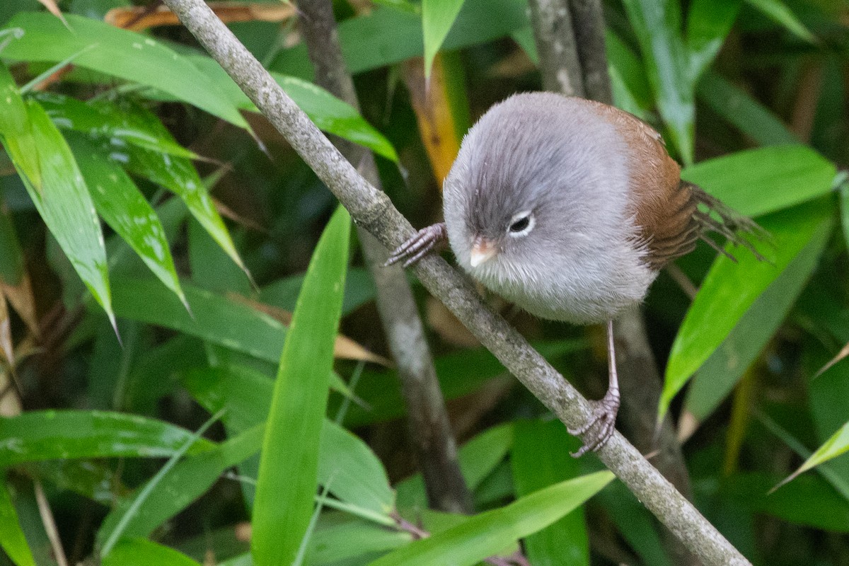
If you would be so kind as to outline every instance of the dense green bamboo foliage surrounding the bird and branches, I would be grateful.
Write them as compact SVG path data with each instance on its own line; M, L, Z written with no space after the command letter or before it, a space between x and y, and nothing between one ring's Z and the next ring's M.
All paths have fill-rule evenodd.
M413 281L479 514L428 510L345 211L169 14L46 8L0 3L0 563L678 563ZM362 115L311 83L291 4L216 5L318 126L377 154L413 224L436 221L471 120L541 87L526 3L334 8ZM773 234L767 262L700 245L661 274L644 409L672 413L694 502L753 563L849 564L849 5L604 12L616 104ZM490 300L601 394L599 329Z

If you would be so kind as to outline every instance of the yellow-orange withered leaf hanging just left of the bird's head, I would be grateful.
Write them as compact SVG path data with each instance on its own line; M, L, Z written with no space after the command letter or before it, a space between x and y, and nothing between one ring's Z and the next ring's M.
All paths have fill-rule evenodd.
M460 150L441 55L437 53L433 60L430 87L424 81L424 60L420 57L404 64L404 82L410 92L430 166L441 186Z

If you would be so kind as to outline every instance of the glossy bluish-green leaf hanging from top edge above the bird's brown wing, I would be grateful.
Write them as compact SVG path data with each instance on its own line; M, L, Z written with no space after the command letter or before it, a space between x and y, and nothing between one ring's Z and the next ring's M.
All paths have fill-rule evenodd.
M672 0L625 0L624 5L672 145L689 165L694 152L694 81L681 36L679 4Z

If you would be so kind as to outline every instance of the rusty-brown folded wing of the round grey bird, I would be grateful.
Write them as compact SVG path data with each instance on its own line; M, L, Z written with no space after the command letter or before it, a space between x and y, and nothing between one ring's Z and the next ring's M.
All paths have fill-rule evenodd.
M635 115L606 104L598 108L631 149L631 209L648 252L645 261L660 269L695 248L699 201L692 186L681 182L681 168L666 153L660 133Z

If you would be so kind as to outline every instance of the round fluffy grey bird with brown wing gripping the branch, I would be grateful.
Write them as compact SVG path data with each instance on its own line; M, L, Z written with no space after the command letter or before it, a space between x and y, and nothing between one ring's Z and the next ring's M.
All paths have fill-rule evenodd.
M387 266L450 245L486 289L544 319L606 324L609 383L571 434L598 451L620 406L613 323L639 305L663 266L716 232L759 259L765 233L683 181L661 134L584 98L523 92L494 104L464 136L443 183L444 222L419 230Z

